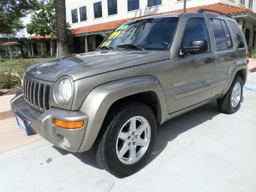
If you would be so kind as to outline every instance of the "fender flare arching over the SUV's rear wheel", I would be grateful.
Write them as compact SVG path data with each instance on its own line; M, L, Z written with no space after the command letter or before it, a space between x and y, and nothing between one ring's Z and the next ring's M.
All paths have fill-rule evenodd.
M239 71L239 70L244 70L245 72L243 73L244 75L244 79L243 79L243 82L245 84L246 82L246 78L247 78L247 73L248 73L248 67L247 67L247 64L244 60L239 60L239 61L236 61L232 64L232 66L230 67L230 70L228 71L228 82L226 84L226 87L224 88L222 94L226 94L228 92L228 89L230 88L234 78L235 78L235 75L236 73Z

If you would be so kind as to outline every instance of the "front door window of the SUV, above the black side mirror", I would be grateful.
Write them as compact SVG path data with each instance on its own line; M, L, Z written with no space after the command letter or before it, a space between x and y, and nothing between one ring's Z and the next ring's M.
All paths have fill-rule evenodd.
M189 46L192 40L205 39L208 44L208 52L210 49L210 38L208 30L203 18L191 18L185 26L184 34L182 37L182 46Z

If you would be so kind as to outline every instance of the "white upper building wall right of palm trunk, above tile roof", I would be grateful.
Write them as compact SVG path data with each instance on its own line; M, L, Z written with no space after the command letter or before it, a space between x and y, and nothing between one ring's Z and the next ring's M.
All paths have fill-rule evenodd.
M93 4L99 1L102 2L102 18L95 19ZM220 0L187 0L187 8L206 5L206 4L214 4L217 2L220 2ZM80 22L79 8L83 6L86 6L87 21ZM132 18L132 17L144 16L148 14L161 13L161 12L177 10L182 8L183 8L183 1L162 0L162 5L148 7L148 0L140 0L140 9L128 12L127 0L117 0L118 14L108 16L107 0L86 0L86 1L85 0L66 0L67 22L71 24L72 28L110 22L110 21L120 20L124 18ZM78 22L72 24L71 10L74 10L74 9L77 9L77 12L78 12Z

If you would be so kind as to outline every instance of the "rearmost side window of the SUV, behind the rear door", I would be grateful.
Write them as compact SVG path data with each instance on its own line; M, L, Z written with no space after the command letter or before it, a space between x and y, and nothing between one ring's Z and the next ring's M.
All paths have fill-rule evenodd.
M244 34L242 33L238 24L232 21L228 21L228 24L231 27L234 43L237 45L238 48L244 48L245 47Z

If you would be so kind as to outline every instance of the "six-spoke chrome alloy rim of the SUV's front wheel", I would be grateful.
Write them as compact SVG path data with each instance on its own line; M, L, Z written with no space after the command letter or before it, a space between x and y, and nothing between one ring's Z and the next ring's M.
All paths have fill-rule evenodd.
M117 140L116 154L124 164L133 164L145 154L150 143L150 125L142 116L134 116L124 123Z

